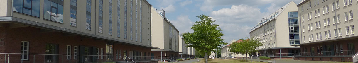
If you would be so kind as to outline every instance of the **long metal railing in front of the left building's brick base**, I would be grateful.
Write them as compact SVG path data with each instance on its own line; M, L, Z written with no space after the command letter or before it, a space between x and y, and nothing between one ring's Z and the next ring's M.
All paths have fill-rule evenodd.
M111 57L111 58L110 58ZM96 62L128 62L121 56L115 55L68 55L68 54L24 54L24 53L0 53L0 63L78 63ZM4 60L2 60L2 58ZM134 61L133 61L134 62ZM130 62L128 62L130 63Z

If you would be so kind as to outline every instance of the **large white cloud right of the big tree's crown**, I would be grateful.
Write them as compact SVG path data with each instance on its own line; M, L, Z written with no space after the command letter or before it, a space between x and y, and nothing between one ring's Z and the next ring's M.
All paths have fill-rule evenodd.
M232 5L231 8L212 11L210 15L226 34L222 37L226 42L249 37L251 26L264 16L260 9L248 5Z

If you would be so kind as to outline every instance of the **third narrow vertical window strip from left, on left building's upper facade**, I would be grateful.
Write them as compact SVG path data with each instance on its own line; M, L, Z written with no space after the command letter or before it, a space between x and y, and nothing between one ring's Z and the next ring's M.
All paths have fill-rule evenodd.
M99 0L98 4L98 33L103 33L103 0Z

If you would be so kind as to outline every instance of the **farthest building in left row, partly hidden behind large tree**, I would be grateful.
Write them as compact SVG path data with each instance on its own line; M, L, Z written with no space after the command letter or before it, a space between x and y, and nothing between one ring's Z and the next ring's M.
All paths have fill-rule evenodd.
M187 46L188 44L185 44L184 39L182 39L182 36L179 35L179 52L182 52L179 53L179 55L182 59L186 59L189 57Z

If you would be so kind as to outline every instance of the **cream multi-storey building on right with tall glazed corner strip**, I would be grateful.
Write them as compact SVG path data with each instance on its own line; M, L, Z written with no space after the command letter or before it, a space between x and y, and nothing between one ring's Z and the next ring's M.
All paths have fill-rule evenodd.
M257 49L260 56L271 58L291 58L292 53L299 53L300 47L290 45L300 44L298 9L291 1L266 18L263 18L251 29L250 38L260 39L263 44ZM285 53L285 54L281 54Z

